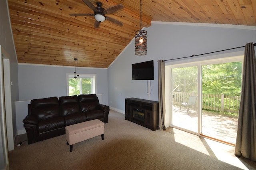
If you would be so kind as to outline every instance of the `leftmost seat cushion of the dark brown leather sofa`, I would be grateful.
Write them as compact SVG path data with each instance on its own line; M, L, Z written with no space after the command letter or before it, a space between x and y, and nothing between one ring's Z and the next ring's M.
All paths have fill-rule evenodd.
M65 127L64 117L50 117L38 123L38 133Z

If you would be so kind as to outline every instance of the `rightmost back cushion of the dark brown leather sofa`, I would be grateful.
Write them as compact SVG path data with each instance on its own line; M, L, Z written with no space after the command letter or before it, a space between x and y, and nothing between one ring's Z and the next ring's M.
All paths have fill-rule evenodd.
M78 100L81 112L94 110L96 106L100 105L96 94L79 95Z

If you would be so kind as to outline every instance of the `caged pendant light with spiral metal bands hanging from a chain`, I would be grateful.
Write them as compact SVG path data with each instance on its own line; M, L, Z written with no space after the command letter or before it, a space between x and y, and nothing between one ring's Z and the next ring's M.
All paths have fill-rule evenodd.
M147 37L148 32L141 29L142 22L142 4L140 0L140 30L136 31L135 34L135 55L146 55L147 54Z

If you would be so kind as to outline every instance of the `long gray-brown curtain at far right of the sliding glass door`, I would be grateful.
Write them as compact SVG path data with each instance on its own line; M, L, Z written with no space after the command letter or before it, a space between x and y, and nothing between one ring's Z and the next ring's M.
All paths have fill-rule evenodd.
M256 59L253 43L247 43L244 51L235 155L256 161Z

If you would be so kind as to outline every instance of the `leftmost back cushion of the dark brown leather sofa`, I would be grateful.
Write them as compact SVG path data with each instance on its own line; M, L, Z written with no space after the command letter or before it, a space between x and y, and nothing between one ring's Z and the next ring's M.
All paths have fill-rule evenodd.
M37 115L39 119L60 116L58 97L44 99L33 99L30 102L31 114Z

